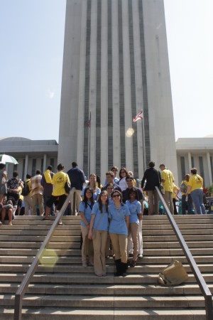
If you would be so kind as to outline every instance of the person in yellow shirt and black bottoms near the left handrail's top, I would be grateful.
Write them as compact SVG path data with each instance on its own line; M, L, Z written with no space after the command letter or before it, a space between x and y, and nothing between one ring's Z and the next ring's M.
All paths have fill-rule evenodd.
M70 178L67 174L63 172L64 166L62 166L62 164L58 164L57 169L58 172L57 174L54 174L52 179L52 184L54 186L53 193L46 203L45 218L43 218L43 220L48 220L50 208L51 206L53 206L53 203L57 201L57 210L60 210L67 198L67 194L65 191L65 183L66 181L70 183ZM61 222L59 224L62 225Z

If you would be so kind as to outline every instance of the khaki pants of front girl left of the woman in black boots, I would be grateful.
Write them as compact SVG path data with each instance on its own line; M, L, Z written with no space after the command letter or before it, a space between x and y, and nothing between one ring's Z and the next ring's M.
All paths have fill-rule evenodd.
M94 273L105 275L107 273L105 250L107 243L107 231L96 230L93 240L94 247Z

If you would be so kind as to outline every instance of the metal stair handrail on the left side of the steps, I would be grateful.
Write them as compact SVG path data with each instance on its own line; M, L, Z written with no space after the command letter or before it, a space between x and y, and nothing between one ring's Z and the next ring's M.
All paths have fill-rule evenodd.
M53 237L53 232L58 227L58 222L62 218L62 215L65 213L65 210L70 202L71 193L68 194L65 203L63 204L62 208L60 209L58 215L55 218L55 221L53 222L53 225L51 226L50 230L48 231L48 234L45 236L45 240L43 240L42 245L40 246L40 249L38 250L37 255L35 256L31 267L29 267L28 272L23 277L23 280L20 284L20 287L18 287L18 290L15 294L15 305L14 305L14 320L21 320L21 312L22 312L22 302L23 302L23 295L26 292L26 289L28 289L28 284L30 284L31 279L33 278L33 275L35 274L35 270L38 267L40 258L43 257L45 251L45 247L50 242L51 238ZM73 201L75 201L75 193L73 195Z

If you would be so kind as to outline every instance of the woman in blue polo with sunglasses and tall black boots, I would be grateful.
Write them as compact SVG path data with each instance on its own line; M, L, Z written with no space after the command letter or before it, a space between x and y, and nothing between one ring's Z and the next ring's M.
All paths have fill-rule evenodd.
M129 208L122 203L122 193L114 190L111 193L114 203L109 206L109 235L114 248L116 277L126 275L127 270L127 236L129 228Z

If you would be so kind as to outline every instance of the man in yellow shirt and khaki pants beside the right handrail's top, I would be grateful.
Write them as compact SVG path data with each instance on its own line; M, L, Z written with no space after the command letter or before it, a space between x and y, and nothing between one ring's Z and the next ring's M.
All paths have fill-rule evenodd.
M163 195L163 198L168 208L170 209L170 213L174 214L173 182L175 181L175 178L173 176L173 173L165 167L165 164L160 164L160 170L162 171L161 179L162 179L162 184L165 190L165 194Z

